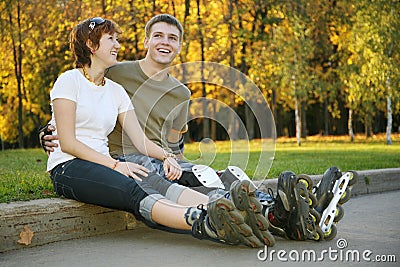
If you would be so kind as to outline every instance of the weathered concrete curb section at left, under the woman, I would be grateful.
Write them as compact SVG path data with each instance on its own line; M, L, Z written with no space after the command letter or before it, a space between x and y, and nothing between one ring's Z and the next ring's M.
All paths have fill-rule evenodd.
M74 200L54 198L3 203L0 204L0 252L137 226L130 213ZM18 242L26 227L33 233L29 245Z

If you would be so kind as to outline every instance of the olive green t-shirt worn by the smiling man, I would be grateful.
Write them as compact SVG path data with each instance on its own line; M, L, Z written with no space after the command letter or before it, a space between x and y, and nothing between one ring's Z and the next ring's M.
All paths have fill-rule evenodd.
M126 61L112 66L106 76L125 88L142 129L156 144L168 147L167 133L185 128L191 93L171 75L162 81L149 79L139 61ZM138 153L119 123L108 137L111 155Z

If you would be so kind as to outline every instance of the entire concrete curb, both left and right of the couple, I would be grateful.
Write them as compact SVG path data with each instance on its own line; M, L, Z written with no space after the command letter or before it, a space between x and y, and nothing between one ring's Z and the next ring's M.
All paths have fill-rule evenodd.
M400 189L400 168L358 171L352 195ZM317 184L322 175L311 178ZM276 191L277 179L257 181L261 190ZM55 241L89 237L144 226L133 215L68 199L39 199L0 204L0 252L33 247ZM18 243L28 227L29 245Z

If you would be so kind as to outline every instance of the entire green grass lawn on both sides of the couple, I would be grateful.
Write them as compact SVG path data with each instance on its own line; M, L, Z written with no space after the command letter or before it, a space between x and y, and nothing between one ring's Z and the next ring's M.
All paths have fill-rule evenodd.
M232 148L232 143L228 141L206 145L193 143L185 146L185 156L197 164L211 164L214 169L224 169L229 164L244 166L250 177L258 167L261 171L256 172L255 179L276 178L284 170L297 174L322 174L333 165L341 170L398 168L399 137L396 136L391 146L385 144L383 137L356 143L346 139L307 138L300 147L293 139L278 139L275 153L275 145L269 144L267 148L272 148L272 151L266 157L262 154L264 158L261 161L260 140L251 141L249 148L242 141L239 142L239 148ZM214 150L216 152L212 152ZM46 160L46 154L40 149L1 151L0 203L55 197L50 178L45 172Z

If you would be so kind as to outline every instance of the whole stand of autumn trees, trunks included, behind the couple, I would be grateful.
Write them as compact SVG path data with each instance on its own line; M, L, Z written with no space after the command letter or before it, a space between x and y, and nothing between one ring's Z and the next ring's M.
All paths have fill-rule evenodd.
M216 62L259 89L234 75L212 80L204 67L186 70L202 76L188 84L192 99L203 101L192 101L193 118L210 118L200 135L242 138L243 120L248 138L260 137L255 117L266 100L278 136L296 134L299 144L307 134L346 130L354 140L361 128L367 136L386 131L390 144L400 123L399 9L395 0L1 0L0 138L11 147L38 145L36 129L51 114L49 91L73 67L68 35L77 22L113 19L123 30L119 60L136 60L146 53L146 22L170 13L185 30L175 64ZM229 130L216 123L221 117L231 118Z

